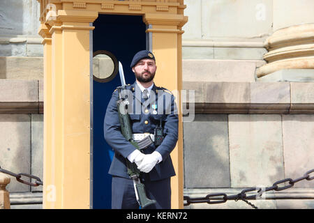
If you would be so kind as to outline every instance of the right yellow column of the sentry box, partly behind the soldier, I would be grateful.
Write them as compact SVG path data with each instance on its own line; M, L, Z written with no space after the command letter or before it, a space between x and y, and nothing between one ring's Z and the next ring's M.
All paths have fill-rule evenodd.
M152 33L152 50L156 56L157 72L155 83L170 91L180 93L182 89L181 66L181 34L179 24L184 21L183 15L156 15L146 14L144 22L151 24L147 32ZM171 178L172 208L184 208L184 164L183 164L183 123L180 111L180 95L177 97L179 109L179 139L177 146L171 153L176 176Z

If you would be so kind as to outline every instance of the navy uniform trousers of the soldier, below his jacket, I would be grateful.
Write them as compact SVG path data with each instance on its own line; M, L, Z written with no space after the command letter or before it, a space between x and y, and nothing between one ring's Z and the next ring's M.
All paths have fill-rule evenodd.
M170 178L163 180L145 180L144 184L147 198L154 199L156 204L147 206L147 209L170 209L171 187ZM112 176L112 209L138 209L133 180Z

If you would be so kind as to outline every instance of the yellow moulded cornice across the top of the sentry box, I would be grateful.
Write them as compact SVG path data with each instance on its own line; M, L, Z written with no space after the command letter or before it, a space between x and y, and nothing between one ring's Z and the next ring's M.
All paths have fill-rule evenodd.
M38 0L41 4L40 21L51 26L50 33L63 29L94 29L90 26L65 24L70 22L94 22L98 13L114 14L142 14L146 24L153 25L147 32L179 33L184 31L181 27L188 22L188 17L183 15L186 6L181 0ZM87 10L88 9L88 10ZM147 13L149 12L149 13ZM156 26L154 26L156 25ZM166 25L167 28L160 28Z

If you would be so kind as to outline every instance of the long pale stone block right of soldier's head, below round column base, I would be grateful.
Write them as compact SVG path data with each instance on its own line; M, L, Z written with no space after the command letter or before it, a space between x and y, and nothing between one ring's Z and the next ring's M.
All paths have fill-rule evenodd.
M262 60L184 59L184 82L255 82L255 70Z

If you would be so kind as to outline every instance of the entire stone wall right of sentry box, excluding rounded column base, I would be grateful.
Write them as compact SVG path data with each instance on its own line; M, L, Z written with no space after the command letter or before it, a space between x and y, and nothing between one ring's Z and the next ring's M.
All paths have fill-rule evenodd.
M314 69L256 75L268 63L267 40L275 31L314 22L308 9L313 1L185 3L183 87L195 90L195 119L184 123L184 195L238 194L313 169ZM314 208L313 192L313 182L305 180L250 202L258 208ZM227 201L186 208L251 207Z

